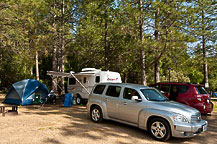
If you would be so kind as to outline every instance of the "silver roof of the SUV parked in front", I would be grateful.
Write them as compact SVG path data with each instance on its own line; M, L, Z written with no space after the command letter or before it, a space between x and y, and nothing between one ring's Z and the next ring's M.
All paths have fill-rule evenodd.
M140 84L132 84L132 83L99 83L100 84L105 84L105 85L115 85L115 86L121 86L121 87L129 87L129 88L134 88L134 89L146 89L146 88L151 88L148 86L140 85Z

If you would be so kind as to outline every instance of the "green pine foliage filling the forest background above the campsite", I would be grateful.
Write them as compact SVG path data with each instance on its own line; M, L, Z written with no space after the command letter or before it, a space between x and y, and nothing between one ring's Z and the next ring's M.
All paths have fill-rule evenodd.
M154 64L158 61L161 81L169 80L170 70L171 81L203 84L201 34L206 35L210 88L217 89L216 2L143 1L141 11L138 1L64 0L64 17L62 1L55 2L0 2L0 89L24 78L35 78L36 51L40 78L50 87L46 71L52 70L54 45L57 67L65 55L66 72L79 72L84 67L105 70L108 65L109 70L121 74L124 82L140 83L142 48L148 84L154 83ZM140 17L144 20L143 41L139 35ZM65 52L60 49L63 35Z

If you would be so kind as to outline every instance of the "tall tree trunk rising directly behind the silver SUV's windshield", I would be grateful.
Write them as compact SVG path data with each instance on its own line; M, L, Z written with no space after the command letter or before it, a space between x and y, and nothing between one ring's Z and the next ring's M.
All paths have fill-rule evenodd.
M139 19L139 37L141 41L141 48L140 48L140 62L141 62L141 83L143 85L147 85L146 83L146 72L145 72L145 50L143 47L144 42L144 33L143 33L143 3L142 0L139 0L139 9L141 12L140 19Z

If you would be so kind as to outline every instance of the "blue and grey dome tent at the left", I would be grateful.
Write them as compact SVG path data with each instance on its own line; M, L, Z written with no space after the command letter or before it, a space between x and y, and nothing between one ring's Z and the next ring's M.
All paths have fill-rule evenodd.
M41 82L34 79L25 79L12 84L8 91L4 103L17 105L31 105L36 95L44 101L48 96L47 87Z

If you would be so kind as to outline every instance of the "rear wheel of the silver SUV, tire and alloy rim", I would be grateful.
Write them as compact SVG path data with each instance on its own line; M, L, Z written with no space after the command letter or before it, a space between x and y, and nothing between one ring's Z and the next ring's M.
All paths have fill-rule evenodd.
M100 123L103 120L102 109L99 106L94 106L90 110L90 117L93 122Z

